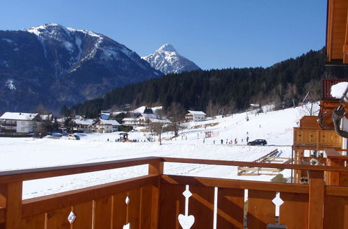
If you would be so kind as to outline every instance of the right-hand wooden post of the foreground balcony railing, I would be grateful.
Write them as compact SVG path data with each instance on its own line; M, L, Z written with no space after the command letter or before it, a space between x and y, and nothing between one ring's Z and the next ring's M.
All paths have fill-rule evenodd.
M324 171L309 171L308 228L323 228Z

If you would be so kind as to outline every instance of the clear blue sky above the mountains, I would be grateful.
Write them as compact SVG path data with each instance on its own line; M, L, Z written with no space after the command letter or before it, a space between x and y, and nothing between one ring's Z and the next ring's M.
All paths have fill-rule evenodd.
M202 69L268 67L321 49L324 0L11 0L0 30L45 23L87 29L147 56L173 44Z

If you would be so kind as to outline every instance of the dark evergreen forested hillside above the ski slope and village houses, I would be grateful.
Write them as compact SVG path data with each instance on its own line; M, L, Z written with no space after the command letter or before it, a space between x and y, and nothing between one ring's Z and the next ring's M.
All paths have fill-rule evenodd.
M86 101L70 112L93 116L101 109L123 105L163 105L179 103L184 109L231 112L250 103L276 102L290 106L319 99L322 78L345 78L346 67L324 67L325 51L309 51L298 58L271 67L212 69L168 74L162 78L127 85L106 94L104 99ZM65 110L66 111L66 110Z

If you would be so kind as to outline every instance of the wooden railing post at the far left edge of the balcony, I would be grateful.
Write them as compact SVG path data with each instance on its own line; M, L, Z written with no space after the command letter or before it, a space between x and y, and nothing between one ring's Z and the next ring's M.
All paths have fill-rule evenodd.
M22 181L0 184L0 207L6 207L5 228L20 229L22 219Z

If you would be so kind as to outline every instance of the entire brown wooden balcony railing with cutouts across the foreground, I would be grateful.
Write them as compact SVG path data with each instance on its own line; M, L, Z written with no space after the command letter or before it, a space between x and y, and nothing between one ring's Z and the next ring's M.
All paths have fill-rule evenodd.
M300 169L310 174L309 185L173 176L167 162L223 166ZM24 180L148 164L148 175L104 185L22 200ZM348 187L324 185L324 172L347 172L347 167L264 164L226 160L136 158L64 167L0 172L0 228L345 228ZM187 186L188 185L188 186ZM186 190L186 191L185 191ZM247 194L247 205L244 195ZM185 196L184 196L185 195ZM130 200L130 201L129 201ZM68 221L70 212L76 219ZM71 218L70 218L71 219Z

